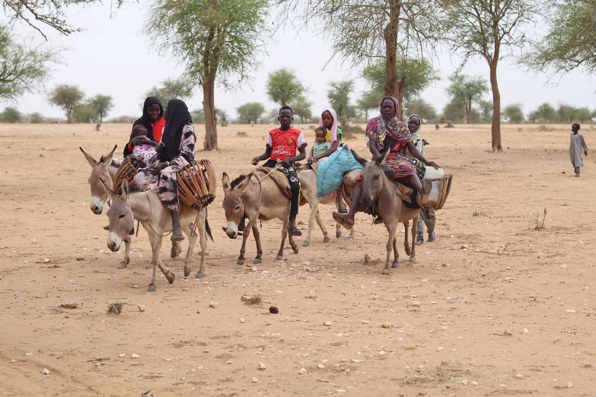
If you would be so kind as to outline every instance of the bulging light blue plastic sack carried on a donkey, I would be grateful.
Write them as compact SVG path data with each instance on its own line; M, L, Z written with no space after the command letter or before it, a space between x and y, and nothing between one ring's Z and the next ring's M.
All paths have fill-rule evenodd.
M335 192L342 186L344 174L356 168L364 170L347 145L343 145L319 165L316 171L317 196L323 197Z

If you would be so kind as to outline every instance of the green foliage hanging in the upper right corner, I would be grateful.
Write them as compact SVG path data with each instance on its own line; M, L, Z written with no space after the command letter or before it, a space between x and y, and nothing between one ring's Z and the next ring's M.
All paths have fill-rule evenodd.
M554 0L548 33L524 61L533 70L596 73L596 0Z

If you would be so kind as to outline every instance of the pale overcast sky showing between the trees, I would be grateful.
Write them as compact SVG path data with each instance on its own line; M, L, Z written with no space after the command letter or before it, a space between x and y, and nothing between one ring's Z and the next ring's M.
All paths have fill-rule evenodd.
M64 64L57 65L46 88L61 83L78 85L87 96L97 93L111 95L114 108L108 115L141 115L144 93L153 85L169 77L178 77L184 71L171 55L159 55L142 35L142 24L147 10L146 1L127 4L119 10L111 10L110 4L88 8L71 8L68 20L71 24L86 30L65 37L51 29L43 28L53 47L69 48L63 52ZM114 11L114 12L112 12ZM112 16L110 17L110 15ZM41 36L29 26L17 23L14 33L20 37L42 43ZM333 80L355 79L356 101L359 93L367 89L359 78L360 70L350 70L349 62L332 60L327 67L325 59L330 56L330 45L322 39L302 32L297 35L291 30L278 32L269 42L268 54L262 55L262 66L253 72L253 80L238 92L224 92L216 87L215 104L235 117L235 108L245 102L258 101L269 111L275 104L266 99L265 82L268 73L287 67L308 87L308 98L317 114L327 107L327 84ZM458 58L451 58L448 51L433 60L441 80L423 92L422 98L430 102L437 111L448 102L445 87L448 76L459 65ZM499 87L501 104L519 102L524 113L534 110L542 102L556 105L566 102L578 107L596 108L596 82L581 70L563 76L558 86L547 86L547 76L526 73L523 68L511 64L507 58L499 63ZM465 65L464 73L481 75L488 81L488 65L476 60ZM490 94L486 95L490 98ZM163 98L162 98L163 99ZM193 98L187 101L191 109L201 108L202 93L197 89ZM23 113L41 112L52 117L63 117L63 111L48 104L46 94L24 95L17 102Z

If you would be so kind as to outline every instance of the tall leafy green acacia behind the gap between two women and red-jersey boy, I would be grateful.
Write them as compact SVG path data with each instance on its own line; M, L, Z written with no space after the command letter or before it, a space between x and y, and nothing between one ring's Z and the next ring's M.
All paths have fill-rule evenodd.
M155 2L145 35L185 63L186 76L203 89L204 148L218 149L215 84L232 89L248 79L264 42L266 0Z

